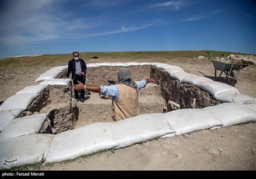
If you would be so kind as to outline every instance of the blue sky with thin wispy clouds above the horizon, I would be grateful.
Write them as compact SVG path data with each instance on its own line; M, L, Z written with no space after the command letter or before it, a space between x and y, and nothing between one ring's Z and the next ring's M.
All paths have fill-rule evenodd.
M0 57L212 50L256 54L255 0L0 0Z

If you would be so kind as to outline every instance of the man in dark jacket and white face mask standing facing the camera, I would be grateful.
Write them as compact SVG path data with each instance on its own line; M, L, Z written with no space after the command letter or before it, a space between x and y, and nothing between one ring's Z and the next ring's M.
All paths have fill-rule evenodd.
M75 84L78 84L77 81L82 82L85 84L85 75L86 75L86 64L84 62L84 59L79 58L79 52L73 52L73 58L68 61L68 71L67 71L67 76L63 78L68 78L70 73ZM78 95L78 91L75 91L75 98L77 102L79 100L81 102L84 102L84 90L80 91L80 97Z

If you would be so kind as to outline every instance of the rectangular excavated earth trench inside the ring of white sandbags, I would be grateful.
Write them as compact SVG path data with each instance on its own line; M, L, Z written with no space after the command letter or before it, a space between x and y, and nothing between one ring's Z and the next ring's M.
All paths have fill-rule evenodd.
M115 84L120 68L123 67L89 67L86 84ZM220 104L207 91L191 84L180 83L155 66L138 65L127 68L131 70L134 81L148 77L155 81L140 90L140 114L166 113L177 109L204 108ZM86 91L85 102L76 102L71 82L67 86L48 86L20 116L38 113L49 114L40 130L40 133L47 134L58 134L90 123L113 122L111 98Z

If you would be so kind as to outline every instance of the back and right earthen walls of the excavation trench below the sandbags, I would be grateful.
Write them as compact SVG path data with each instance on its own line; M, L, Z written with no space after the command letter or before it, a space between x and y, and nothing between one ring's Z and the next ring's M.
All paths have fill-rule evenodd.
M120 68L124 68L125 66L115 66L115 63L97 63L97 66L95 65L93 68L90 67L89 64L86 74L87 84L109 85L117 82L117 72ZM171 100L177 102L180 105L180 109L188 109L192 108L194 98L196 99L195 108L220 104L220 102L215 100L207 91L193 84L181 83L179 80L173 79L166 72L154 65L131 65L128 67L131 70L132 79L134 79L134 81L148 77L153 78L156 84L160 85L162 97L166 101L166 104ZM169 109L168 111L172 110Z

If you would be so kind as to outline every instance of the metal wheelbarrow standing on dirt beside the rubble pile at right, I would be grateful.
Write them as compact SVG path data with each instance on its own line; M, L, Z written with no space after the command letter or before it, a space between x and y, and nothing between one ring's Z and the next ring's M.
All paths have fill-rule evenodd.
M219 78L221 77L221 74L224 72L226 75L225 76L226 80L232 86L234 86L237 83L240 70L248 66L248 64L243 64L243 63L238 63L238 64L231 63L230 61L227 60L224 54L221 54L221 55L224 56L225 61L213 59L212 54L210 52L207 52L207 54L210 54L211 56L211 61L213 63L214 70L215 70L215 79L218 81ZM220 75L217 75L217 70L220 71Z

